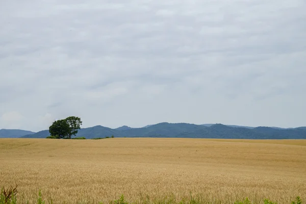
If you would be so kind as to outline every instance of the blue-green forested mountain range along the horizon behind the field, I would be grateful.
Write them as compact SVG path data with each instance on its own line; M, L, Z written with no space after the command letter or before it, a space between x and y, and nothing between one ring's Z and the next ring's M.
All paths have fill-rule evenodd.
M11 131L11 132L10 132ZM14 134L13 134L14 132ZM37 133L0 130L0 137L46 138L49 131ZM18 135L18 134L19 135ZM169 137L169 138L226 138L226 139L306 139L306 127L284 129L281 127L250 127L224 124L189 124L162 122L140 128L121 126L116 129L101 125L79 130L77 137Z

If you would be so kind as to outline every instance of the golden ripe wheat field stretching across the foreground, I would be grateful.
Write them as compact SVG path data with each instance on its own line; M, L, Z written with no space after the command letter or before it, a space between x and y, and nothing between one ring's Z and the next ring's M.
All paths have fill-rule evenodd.
M306 140L0 139L0 185L46 203L306 199Z

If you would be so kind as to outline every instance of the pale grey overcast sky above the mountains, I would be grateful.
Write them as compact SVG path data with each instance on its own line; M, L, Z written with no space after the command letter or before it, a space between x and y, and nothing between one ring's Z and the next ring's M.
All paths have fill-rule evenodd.
M0 129L306 126L304 0L2 0Z

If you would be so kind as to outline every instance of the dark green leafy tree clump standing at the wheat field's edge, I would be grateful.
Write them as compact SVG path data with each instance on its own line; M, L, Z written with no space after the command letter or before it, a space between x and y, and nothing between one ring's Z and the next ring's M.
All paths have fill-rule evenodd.
M82 125L81 118L67 117L66 119L56 120L49 127L49 132L52 136L58 136L59 139L71 139L72 135L77 135Z

